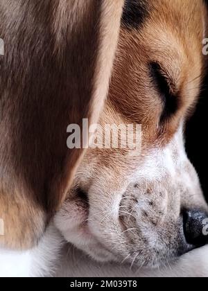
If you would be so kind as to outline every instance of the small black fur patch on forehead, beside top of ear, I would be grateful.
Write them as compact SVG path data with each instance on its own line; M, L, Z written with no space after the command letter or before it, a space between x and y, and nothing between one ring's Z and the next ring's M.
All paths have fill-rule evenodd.
M125 0L122 25L125 28L138 29L149 15L147 0Z

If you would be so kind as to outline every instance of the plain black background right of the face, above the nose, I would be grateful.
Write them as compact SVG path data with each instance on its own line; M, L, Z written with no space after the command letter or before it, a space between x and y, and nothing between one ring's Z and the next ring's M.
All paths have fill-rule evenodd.
M198 106L187 123L187 153L200 176L202 188L208 202L208 73L202 87Z

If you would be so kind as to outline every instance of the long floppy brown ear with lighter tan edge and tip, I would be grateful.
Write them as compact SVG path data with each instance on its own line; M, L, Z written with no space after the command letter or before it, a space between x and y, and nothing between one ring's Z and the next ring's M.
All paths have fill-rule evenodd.
M112 71L123 0L3 1L0 6L0 245L38 242L84 150L67 126L96 123Z

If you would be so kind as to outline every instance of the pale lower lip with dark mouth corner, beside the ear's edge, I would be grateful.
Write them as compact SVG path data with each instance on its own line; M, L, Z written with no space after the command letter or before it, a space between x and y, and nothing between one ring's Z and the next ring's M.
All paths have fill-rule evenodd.
M62 209L55 215L55 226L61 231L68 243L85 252L95 261L105 263L116 261L116 256L92 233L89 224L89 200L85 191L73 188Z

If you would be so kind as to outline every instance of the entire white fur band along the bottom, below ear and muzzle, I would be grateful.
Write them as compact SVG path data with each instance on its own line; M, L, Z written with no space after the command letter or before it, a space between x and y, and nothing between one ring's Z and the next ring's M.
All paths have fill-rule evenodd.
M72 245L63 247L62 236L54 227L49 227L40 245L31 251L12 252L0 249L0 261L0 277L208 276L208 246L182 256L175 265L163 270L137 271L130 270L130 265L96 263Z

